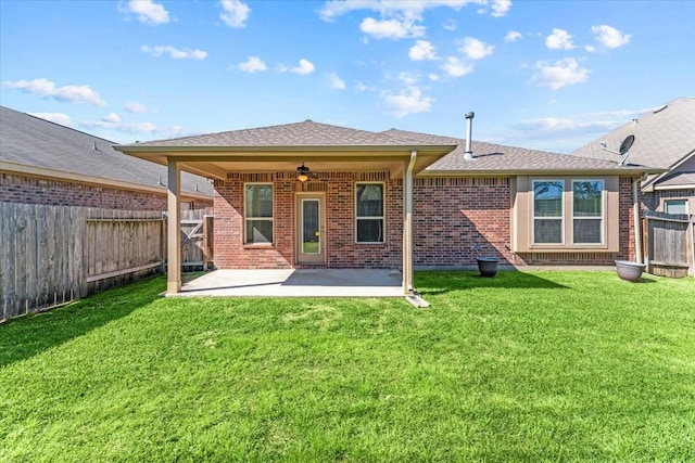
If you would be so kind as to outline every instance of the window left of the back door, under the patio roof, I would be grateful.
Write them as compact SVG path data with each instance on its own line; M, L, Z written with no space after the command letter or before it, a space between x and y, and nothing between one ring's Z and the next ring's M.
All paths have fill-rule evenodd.
M273 243L273 184L244 188L244 244Z

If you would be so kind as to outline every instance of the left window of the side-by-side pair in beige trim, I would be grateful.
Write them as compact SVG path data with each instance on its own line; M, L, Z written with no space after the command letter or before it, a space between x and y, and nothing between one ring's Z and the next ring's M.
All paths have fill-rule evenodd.
M533 243L563 244L564 181L533 182Z

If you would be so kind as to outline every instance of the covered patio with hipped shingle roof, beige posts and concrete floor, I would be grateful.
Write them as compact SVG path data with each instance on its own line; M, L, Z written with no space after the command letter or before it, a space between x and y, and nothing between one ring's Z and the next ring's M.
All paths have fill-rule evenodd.
M427 303L413 284L414 177L455 147L311 120L115 146L168 167L167 295L203 287L269 295L274 288L278 296L405 296L420 307ZM188 287L178 245L181 171L214 179L215 242L224 243L215 265L233 272ZM354 194L370 184L377 185L370 191L378 193L378 211L365 209L358 223L376 232L359 237ZM249 202L264 194L258 205ZM384 280L380 268L399 268L397 281L380 270Z

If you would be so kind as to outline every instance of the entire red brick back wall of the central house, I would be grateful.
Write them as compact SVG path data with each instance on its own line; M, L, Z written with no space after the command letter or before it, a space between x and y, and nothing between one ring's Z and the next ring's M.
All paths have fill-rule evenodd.
M619 182L620 250L618 253L525 253L510 250L511 185L507 177L418 178L414 184L414 263L419 268L476 265L481 255L515 266L614 265L633 259L632 178ZM355 183L383 182L386 243L355 243ZM267 245L243 244L243 185L274 185L274 237ZM301 183L294 172L230 173L215 181L215 265L217 268L296 268L295 195L321 192L326 198L326 263L328 268L401 268L403 182L388 172L324 173Z

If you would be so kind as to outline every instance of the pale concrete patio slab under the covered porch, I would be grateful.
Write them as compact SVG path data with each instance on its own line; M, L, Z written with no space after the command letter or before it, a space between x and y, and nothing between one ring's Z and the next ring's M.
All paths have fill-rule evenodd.
M404 297L397 270L215 270L166 296Z

